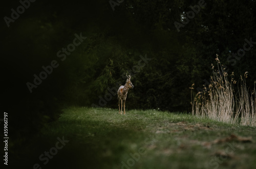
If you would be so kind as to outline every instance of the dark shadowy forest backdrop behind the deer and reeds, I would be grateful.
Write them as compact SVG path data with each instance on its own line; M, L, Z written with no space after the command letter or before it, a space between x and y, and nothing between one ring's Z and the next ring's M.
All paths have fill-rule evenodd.
M12 146L56 120L65 106L100 106L108 88L124 85L123 73L132 74L135 86L127 96L128 110L189 112L189 87L195 83L196 93L209 81L216 54L229 75L239 78L248 71L247 85L253 87L254 46L242 58L232 53L245 39L256 41L256 1L205 1L178 32L175 21L185 20L198 3L125 0L113 11L108 0L35 1L10 27L2 19L1 112L9 115ZM1 6L2 18L11 18L20 3ZM56 53L80 33L87 39L61 61ZM151 60L132 72L145 54ZM59 66L30 93L26 83L53 60ZM118 108L117 95L105 106Z

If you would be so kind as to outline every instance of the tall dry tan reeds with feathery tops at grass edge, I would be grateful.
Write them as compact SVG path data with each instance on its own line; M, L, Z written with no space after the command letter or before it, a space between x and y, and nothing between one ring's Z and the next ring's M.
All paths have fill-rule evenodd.
M229 80L218 55L216 61L217 68L212 65L213 76L209 86L204 86L203 91L197 93L194 98L194 88L190 88L192 114L226 123L256 126L256 81L254 88L249 90L246 87L248 72L245 72L239 81L233 79L232 72Z

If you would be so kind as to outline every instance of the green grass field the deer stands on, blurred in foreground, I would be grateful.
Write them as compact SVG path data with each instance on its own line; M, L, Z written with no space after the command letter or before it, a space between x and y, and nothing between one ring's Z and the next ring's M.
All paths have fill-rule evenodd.
M126 115L107 108L63 111L57 121L15 150L9 164L125 169L256 166L256 128L157 110L127 110ZM66 140L64 146L56 144L57 137ZM39 160L41 154L44 160Z

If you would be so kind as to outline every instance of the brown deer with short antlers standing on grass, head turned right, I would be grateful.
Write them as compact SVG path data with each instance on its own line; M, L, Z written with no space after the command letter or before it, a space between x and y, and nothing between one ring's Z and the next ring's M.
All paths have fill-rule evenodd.
M117 95L118 95L118 107L119 107L119 114L122 115L122 107L123 107L123 114L125 115L125 100L127 97L127 93L129 91L130 88L134 88L133 83L131 81L131 74L129 76L127 76L126 73L126 83L124 86L120 86L118 91L117 91ZM121 113L120 113L120 102L121 102Z

